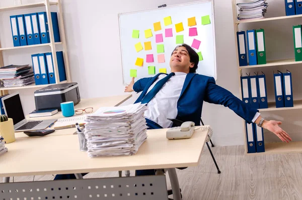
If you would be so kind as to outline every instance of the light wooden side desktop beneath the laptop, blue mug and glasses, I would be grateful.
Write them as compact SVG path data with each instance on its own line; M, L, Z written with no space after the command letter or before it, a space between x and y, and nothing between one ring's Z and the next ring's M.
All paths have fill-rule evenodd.
M120 96L112 96L112 97L98 97L98 98L92 98L92 99L81 99L80 103L74 106L74 109L85 109L87 107L93 107L93 112L97 111L100 107L113 107L113 106L119 106L126 100L128 100L130 97L132 97L132 94L130 95L120 95ZM83 113L82 115L84 115ZM81 115L74 115L74 116L81 116ZM63 118L62 112L58 112L52 116L47 117L29 117L29 115L26 116L27 120L46 120L46 119L59 119ZM53 126L48 128L53 129ZM76 131L76 128L66 128L66 129L60 129L55 130L51 134L46 135L48 136L62 136L62 135L72 135ZM16 138L28 138L27 135L24 134L24 132L15 132Z

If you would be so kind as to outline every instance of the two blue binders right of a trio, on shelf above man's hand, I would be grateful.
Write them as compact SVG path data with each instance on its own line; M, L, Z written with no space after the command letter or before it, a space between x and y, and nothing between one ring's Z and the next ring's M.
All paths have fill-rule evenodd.
M276 108L293 107L291 73L274 73Z

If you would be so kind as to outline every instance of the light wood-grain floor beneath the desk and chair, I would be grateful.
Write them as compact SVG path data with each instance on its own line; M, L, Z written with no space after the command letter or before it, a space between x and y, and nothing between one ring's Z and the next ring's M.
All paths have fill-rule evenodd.
M183 199L302 199L302 154L247 156L243 146L214 147L212 152L221 174L206 146L198 167L177 170ZM118 172L89 173L84 178L113 176ZM14 181L33 178L15 177ZM52 179L52 175L35 176L35 181ZM171 188L168 176L167 183Z

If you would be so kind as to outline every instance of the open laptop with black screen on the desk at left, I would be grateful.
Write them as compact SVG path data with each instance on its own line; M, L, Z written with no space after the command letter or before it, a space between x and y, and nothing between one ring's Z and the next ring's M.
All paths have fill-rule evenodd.
M19 92L10 94L2 98L5 114L13 119L15 131L45 129L56 119L49 120L27 120L24 114Z

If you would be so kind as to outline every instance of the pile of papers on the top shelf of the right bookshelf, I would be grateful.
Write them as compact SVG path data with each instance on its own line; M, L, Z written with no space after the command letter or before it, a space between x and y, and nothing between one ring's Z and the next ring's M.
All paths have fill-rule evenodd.
M263 19L267 11L266 0L255 0L249 3L238 3L239 15L238 20L246 19Z

